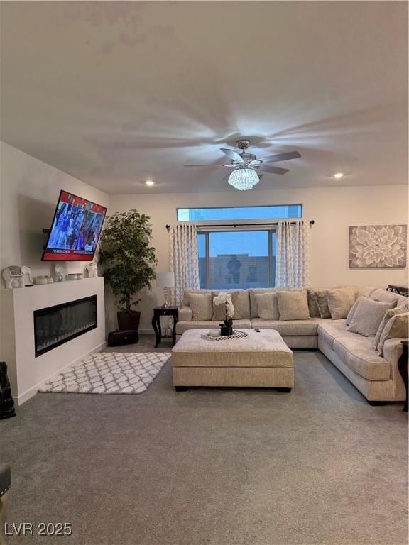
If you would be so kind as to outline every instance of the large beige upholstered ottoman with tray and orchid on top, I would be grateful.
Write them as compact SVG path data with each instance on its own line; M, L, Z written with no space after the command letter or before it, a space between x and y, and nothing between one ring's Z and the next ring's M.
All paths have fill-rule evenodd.
M172 349L173 385L273 387L294 386L293 352L278 331L246 329L249 336L208 341L208 329L189 329Z

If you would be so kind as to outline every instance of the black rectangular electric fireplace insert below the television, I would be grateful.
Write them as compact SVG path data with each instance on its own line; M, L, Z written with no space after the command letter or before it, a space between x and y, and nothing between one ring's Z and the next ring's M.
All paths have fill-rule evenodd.
M97 325L97 295L35 310L36 358Z

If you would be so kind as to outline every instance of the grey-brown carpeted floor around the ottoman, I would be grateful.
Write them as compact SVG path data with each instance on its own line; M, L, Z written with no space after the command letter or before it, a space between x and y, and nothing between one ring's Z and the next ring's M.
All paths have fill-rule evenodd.
M142 395L36 395L0 422L9 522L73 535L8 543L406 545L403 405L370 407L318 352L295 378L175 392L168 363Z

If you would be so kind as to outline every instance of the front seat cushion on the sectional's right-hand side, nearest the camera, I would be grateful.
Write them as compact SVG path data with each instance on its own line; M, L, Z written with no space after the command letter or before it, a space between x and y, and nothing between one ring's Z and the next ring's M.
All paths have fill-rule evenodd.
M391 364L376 354L371 338L361 335L337 338L334 351L345 365L367 380L391 378Z

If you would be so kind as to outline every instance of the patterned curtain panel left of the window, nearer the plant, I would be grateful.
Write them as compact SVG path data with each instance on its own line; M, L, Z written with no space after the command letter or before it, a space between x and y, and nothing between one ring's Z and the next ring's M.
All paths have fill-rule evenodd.
M170 270L175 272L175 288L172 290L173 304L180 307L186 288L197 290L200 287L195 225L170 226Z

